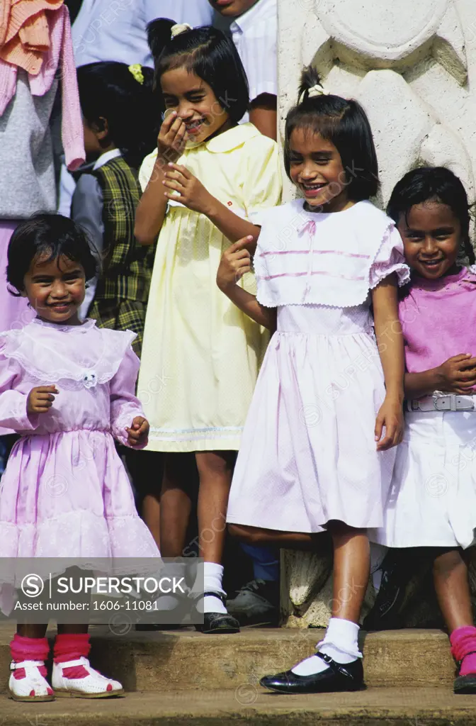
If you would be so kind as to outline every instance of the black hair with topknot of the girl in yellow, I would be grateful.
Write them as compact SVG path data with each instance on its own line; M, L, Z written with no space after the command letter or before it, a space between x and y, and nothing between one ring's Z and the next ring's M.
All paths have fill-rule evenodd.
M149 48L155 61L155 81L161 110L165 104L160 77L167 70L186 68L208 83L218 103L238 123L250 103L245 68L231 38L205 25L171 37L173 20L161 17L147 25Z

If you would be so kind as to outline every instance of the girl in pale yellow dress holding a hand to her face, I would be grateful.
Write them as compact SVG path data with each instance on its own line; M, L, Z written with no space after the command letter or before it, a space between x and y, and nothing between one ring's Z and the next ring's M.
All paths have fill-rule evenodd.
M165 120L139 174L136 237L144 245L159 239L138 396L150 422L148 449L167 452L160 544L164 557L186 554L195 459L202 630L237 632L222 587L226 506L267 338L218 290L216 272L232 242L250 236L255 245L253 214L280 203L279 155L253 124L238 123L249 102L247 79L220 30L155 20L149 44ZM240 284L253 290L254 278Z

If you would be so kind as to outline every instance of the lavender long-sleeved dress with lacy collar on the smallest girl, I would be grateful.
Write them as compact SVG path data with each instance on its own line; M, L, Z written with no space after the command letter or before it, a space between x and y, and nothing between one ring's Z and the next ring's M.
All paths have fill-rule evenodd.
M158 557L114 439L142 415L134 333L38 318L0 335L0 425L20 433L0 489L0 558ZM31 388L54 383L49 412Z

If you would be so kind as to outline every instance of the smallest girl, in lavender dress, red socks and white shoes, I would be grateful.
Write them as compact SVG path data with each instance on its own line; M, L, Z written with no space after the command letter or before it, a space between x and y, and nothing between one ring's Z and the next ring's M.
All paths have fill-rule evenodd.
M66 217L38 215L12 235L7 279L36 317L0 335L0 425L21 437L1 480L1 558L159 556L114 444L147 444L149 424L134 396L135 335L78 319L96 272L86 235ZM52 690L45 632L46 625L18 625L12 698L123 693L89 665L87 625L58 626Z

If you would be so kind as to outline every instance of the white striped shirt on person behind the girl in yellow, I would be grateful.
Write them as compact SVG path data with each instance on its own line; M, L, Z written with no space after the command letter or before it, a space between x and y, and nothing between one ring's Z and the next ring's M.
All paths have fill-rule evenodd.
M278 95L278 4L258 0L230 25L250 85L250 100L263 93Z

